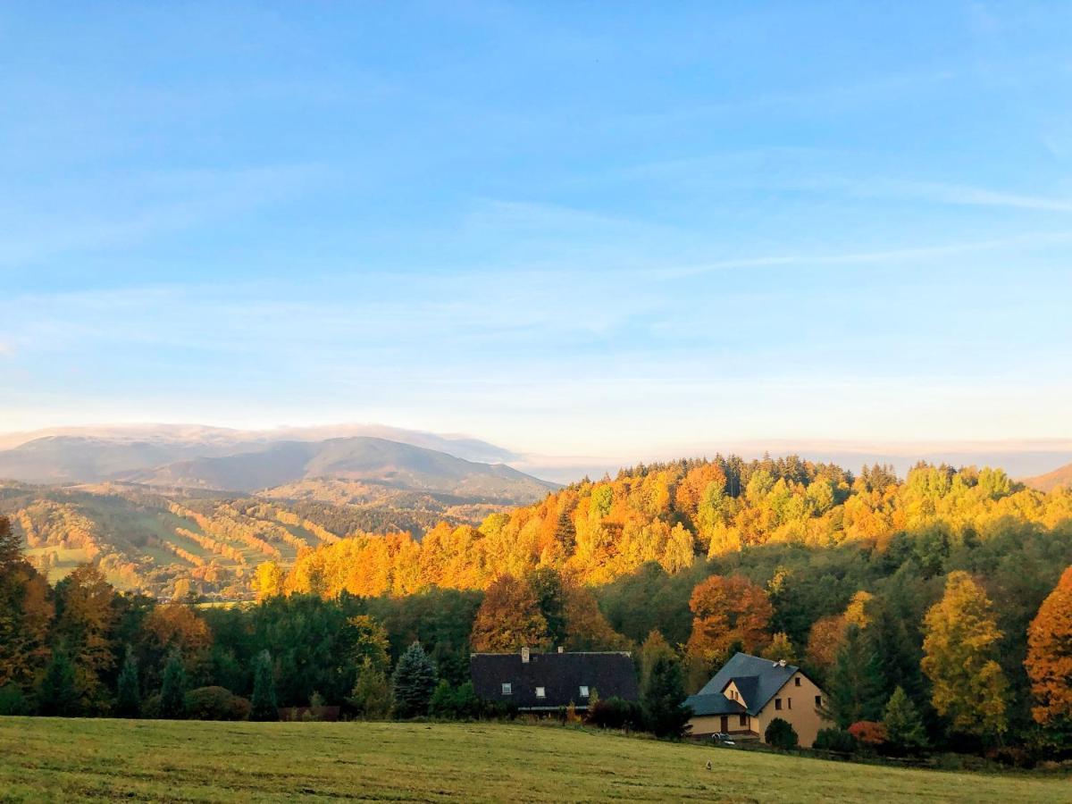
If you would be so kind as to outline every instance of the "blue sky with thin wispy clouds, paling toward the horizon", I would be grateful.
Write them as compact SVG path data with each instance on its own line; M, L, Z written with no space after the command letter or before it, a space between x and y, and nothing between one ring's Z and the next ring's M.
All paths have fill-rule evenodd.
M1072 6L5 3L0 430L1072 438Z

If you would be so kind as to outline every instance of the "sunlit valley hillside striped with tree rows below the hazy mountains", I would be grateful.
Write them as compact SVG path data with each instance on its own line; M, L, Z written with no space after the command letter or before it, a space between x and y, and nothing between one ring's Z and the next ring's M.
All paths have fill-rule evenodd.
M256 566L357 534L413 533L479 522L502 504L345 480L310 480L258 496L154 490L129 483L0 483L27 559L49 580L92 562L119 589L208 599L251 596Z

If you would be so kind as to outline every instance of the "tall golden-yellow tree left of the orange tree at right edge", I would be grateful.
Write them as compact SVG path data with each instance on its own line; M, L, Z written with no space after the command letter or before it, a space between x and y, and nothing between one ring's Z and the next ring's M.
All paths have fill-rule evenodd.
M1001 631L982 587L967 572L950 572L944 596L923 622L922 667L934 685L935 711L963 734L1001 734L1009 685L997 662Z

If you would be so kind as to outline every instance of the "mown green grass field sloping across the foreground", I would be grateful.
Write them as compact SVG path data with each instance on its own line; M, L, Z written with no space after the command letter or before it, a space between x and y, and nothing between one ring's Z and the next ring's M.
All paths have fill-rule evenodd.
M902 770L521 725L0 717L2 801L293 798L1069 802L1072 778Z

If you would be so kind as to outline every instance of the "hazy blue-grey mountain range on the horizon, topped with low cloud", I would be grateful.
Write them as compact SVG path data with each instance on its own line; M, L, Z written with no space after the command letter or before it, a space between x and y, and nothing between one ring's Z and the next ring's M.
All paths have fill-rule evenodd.
M316 438L326 428L285 431L306 436L286 440L214 428L102 429L48 434L2 450L0 479L51 485L119 481L249 493L330 478L510 504L538 500L557 488L502 463L511 453L492 444L363 429L389 432L408 443L371 435ZM473 456L500 460L487 463Z

